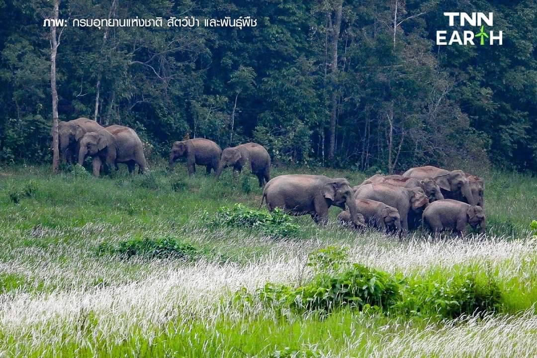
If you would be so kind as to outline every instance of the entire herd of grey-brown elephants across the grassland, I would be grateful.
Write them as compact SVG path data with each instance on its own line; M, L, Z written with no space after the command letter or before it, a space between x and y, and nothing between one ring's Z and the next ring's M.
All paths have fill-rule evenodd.
M129 173L135 166L147 169L143 145L133 129L113 125L102 127L96 121L78 118L59 123L59 149L63 162L78 158L83 164L92 158L93 175L99 176L113 165L127 164ZM263 187L261 204L269 210L284 209L292 215L311 215L316 223L328 221L328 209L337 206L344 211L338 221L354 229L374 227L400 236L420 226L433 232L466 233L467 227L485 230L484 182L462 170L445 170L434 166L411 168L402 175L376 174L353 186L344 178L290 174L270 178L271 158L257 143L246 143L221 150L204 138L173 143L170 167L186 157L188 174L195 165L213 170L216 178L222 170L233 167L241 173L249 166Z

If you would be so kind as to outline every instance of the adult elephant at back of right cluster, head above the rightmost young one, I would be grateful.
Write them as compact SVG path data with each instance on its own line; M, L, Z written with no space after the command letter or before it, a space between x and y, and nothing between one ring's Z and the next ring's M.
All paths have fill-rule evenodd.
M403 177L432 178L437 182L445 199L464 199L471 205L477 205L477 198L474 198L471 192L470 181L462 170L449 171L426 165L407 170Z

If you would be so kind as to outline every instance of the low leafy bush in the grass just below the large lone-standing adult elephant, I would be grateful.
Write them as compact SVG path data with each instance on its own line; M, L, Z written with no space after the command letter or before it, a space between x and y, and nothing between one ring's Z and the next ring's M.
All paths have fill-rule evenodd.
M291 216L284 210L274 209L272 213L266 210L255 210L237 203L233 207L221 207L214 217L204 213L207 224L227 227L256 228L274 238L297 237L300 235L300 225L292 222Z

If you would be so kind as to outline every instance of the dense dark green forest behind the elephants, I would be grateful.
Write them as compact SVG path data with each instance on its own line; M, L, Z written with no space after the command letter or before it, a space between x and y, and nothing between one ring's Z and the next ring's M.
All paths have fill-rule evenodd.
M490 164L537 172L537 3L485 0L61 0L59 18L155 19L57 28L53 2L0 0L0 162L52 158L51 49L60 120L172 141L263 144L274 163L395 172ZM437 46L493 12L503 45ZM257 26L169 27L170 17ZM470 30L476 32L477 27Z

